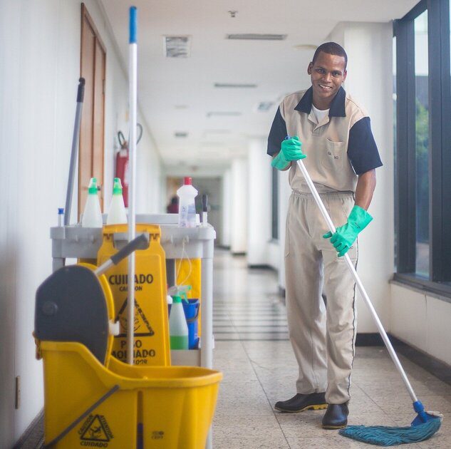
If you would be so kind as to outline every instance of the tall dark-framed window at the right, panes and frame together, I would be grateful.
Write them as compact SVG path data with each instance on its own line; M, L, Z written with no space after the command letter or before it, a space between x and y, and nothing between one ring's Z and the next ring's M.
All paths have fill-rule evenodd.
M395 21L395 279L451 297L451 0Z

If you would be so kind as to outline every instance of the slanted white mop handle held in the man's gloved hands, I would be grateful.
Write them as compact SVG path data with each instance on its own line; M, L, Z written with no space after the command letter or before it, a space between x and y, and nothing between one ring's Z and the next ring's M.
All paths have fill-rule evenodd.
M332 234L334 234L336 232L335 226L333 226L331 217L329 217L326 207L324 207L324 205L323 205L323 201L321 200L321 197L319 196L318 191L316 190L316 187L313 184L313 181L311 180L309 172L307 172L304 162L302 162L302 160L297 160L296 162L298 162L298 167L301 169L301 172L304 175L304 179L306 180L307 185L309 185L311 194L313 195L313 198L315 199L316 204L318 205L319 210L321 211L321 214L323 215L324 220L326 220L329 230L332 232ZM369 298L368 294L366 293L365 287L363 287L360 277L358 277L356 269L354 268L354 265L351 262L349 255L346 253L344 255L344 258L346 260L346 264L348 264L348 268L351 270L354 280L356 281L358 289L361 291L361 294L363 296L363 299L366 302L366 305L368 306L368 309L370 309L371 315L373 315L373 319L375 321L376 326L378 326L379 334L382 337L382 339L385 343L385 346L388 349L388 353L390 353L390 357L392 358L393 363L395 363L396 369L400 373L401 378L403 378L405 388L407 388L407 390L410 394L410 398L412 398L413 402L418 401L417 396L415 395L415 392L413 391L413 388L410 385L409 379L407 378L407 376L405 374L403 366L401 365L399 358L396 355L395 350L393 349L393 345L391 344L390 340L388 339L387 333L385 332L385 329L383 328L383 325L380 322L379 316L376 313L376 311L373 307L373 304L371 304L370 298Z

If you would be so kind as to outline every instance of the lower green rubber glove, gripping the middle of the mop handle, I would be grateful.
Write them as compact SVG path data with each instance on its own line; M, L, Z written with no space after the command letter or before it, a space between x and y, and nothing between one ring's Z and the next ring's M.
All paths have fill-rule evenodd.
M373 217L365 209L354 206L351 214L349 214L348 222L337 227L335 234L332 235L332 232L327 232L323 237L331 239L331 244L337 250L338 257L343 257L356 241L358 233L362 232L371 220L373 220Z

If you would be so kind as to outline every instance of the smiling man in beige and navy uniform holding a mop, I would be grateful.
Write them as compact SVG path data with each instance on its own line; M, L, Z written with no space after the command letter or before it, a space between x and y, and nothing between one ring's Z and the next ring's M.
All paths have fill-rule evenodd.
M357 264L357 235L372 220L366 211L375 189L375 168L382 165L368 114L341 86L347 62L337 43L319 46L307 69L311 88L282 100L268 139L271 165L290 168L286 311L299 364L296 395L275 408L299 412L327 407L323 428L348 423L356 286L343 255L348 252ZM333 235L297 167L299 159L337 227Z

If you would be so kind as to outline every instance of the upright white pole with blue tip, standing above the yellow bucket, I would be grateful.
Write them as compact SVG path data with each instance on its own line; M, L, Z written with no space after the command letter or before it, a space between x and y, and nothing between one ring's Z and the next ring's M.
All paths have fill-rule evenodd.
M128 67L128 90L130 108L130 142L129 142L129 170L128 183L128 241L135 238L135 169L136 169L136 98L138 71L138 44L136 41L137 11L130 7L130 53ZM135 324L135 254L128 257L128 314L127 314L127 362L133 365L133 341Z

